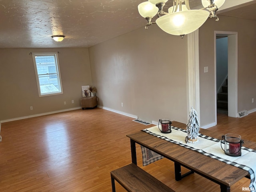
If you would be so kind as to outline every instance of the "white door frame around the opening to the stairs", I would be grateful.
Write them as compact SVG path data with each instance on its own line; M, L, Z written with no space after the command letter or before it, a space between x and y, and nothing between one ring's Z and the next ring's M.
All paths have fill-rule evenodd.
M215 31L215 120L217 124L217 72L216 72L216 39L218 36L226 36L228 38L228 116L237 117L237 61L238 61L238 48L237 48L237 32Z

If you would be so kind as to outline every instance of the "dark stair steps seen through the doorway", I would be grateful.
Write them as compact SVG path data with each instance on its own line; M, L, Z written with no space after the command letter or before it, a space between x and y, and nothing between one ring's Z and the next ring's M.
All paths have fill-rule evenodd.
M217 98L217 112L228 114L228 79L226 79L226 85L222 86L222 92L218 93Z

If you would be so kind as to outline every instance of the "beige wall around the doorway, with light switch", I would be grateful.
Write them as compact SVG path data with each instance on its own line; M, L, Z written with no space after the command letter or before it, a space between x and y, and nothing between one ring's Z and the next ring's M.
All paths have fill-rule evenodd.
M215 122L214 31L238 32L238 112L256 109L256 21L227 16L208 19L199 29L201 126ZM204 73L208 66L208 73Z

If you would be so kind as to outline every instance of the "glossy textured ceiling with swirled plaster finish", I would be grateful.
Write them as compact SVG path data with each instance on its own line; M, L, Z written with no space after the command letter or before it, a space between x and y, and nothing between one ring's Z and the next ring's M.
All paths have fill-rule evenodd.
M144 1L0 0L0 48L90 47L145 26L137 9ZM191 8L202 8L201 0L189 2ZM255 20L255 5L251 14L243 9L242 15L253 14ZM172 0L164 10L170 6ZM237 16L241 11L231 10L230 14ZM66 37L55 42L52 35Z

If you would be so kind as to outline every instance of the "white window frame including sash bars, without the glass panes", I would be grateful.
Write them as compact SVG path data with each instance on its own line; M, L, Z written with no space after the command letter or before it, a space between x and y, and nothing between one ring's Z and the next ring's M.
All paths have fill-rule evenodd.
M45 74L38 74L38 70L37 70L37 66L36 66L36 56L54 56L55 66L56 66L56 75L57 75L56 79L57 79L58 84L59 84L60 92L41 93L39 76L40 75L42 76L42 75L45 75ZM59 64L59 59L58 59L58 52L32 53L32 58L33 58L33 62L34 62L34 70L35 70L35 74L36 74L36 84L37 84L37 88L38 88L39 97L63 94L62 80L61 80L61 75L60 75L60 64ZM50 65L54 66L52 64L50 64ZM49 74L47 65L46 65L46 68L47 68L47 74ZM49 79L49 80L51 81L53 79Z

